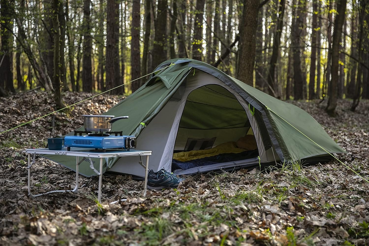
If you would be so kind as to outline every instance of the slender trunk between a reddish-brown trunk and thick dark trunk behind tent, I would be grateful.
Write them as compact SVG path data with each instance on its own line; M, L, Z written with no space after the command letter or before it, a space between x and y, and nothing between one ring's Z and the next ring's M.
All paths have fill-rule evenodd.
M174 8L176 6L176 3L173 1L173 15L174 15ZM144 36L144 52L142 53L142 74L146 75L148 73L147 70L147 56L149 53L149 39L150 39L150 32L151 32L151 12L150 12L150 8L151 7L151 1L150 0L145 0L145 36ZM175 32L175 27L176 27L176 21L174 20L174 24L173 24L173 19L177 19L177 16L172 16L172 22L171 22L171 26L170 26L170 30ZM174 25L172 27L172 25ZM173 29L173 30L172 30ZM173 53L174 53L174 33L171 34L172 35L172 43L171 45L173 45ZM170 56L175 55L172 54L172 47L170 50ZM175 56L172 56L171 59L175 58ZM146 81L146 79L148 79L147 77L144 78L143 80Z

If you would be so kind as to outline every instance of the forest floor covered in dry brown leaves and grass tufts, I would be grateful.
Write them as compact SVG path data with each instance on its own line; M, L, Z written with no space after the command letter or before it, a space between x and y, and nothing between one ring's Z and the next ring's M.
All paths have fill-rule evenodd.
M89 93L65 93L67 104ZM177 189L148 191L130 176L104 176L79 193L27 195L25 148L82 125L82 114L101 114L121 97L99 96L0 135L0 245L369 245L369 184L338 161L295 163L269 170L187 176ZM337 118L325 102L290 101L310 113L348 154L346 165L369 179L369 101L356 112L339 100ZM45 92L0 101L0 132L54 110ZM52 133L52 131L54 131ZM68 189L74 172L49 160L32 167L34 192ZM80 184L88 178L80 177ZM110 202L127 198L127 201Z

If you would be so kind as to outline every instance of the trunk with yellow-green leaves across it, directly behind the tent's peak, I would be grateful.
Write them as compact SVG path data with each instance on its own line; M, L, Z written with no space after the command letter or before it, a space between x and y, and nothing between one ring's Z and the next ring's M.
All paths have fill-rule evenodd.
M218 1L215 3L215 6L217 3ZM204 4L205 4L205 0L196 1L196 15L195 15L193 41L192 41L192 44L193 44L192 45L192 59L195 59L195 60L202 60L202 56L203 56ZM215 30L215 22L214 22L214 30ZM214 40L215 40L215 37L214 37Z

